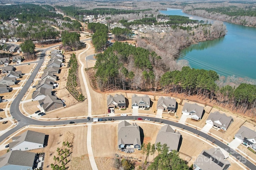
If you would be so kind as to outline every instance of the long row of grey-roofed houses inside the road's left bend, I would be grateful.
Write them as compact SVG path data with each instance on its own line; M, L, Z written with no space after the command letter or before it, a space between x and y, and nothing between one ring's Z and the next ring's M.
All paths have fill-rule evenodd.
M44 69L44 73L41 76L41 80L38 81L36 90L32 94L32 100L38 101L44 112L53 111L65 107L66 105L62 100L54 95L52 89L58 87L58 74L60 72L60 67L63 65L64 55L59 51L52 51L51 59Z

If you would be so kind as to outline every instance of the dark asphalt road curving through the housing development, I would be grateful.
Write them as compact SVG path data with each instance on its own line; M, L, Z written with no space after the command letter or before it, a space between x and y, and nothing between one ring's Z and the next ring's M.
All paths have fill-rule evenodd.
M51 49L51 48L53 48L53 47L49 47L48 49ZM4 139L6 139L10 135L12 135L12 133L15 133L16 131L18 131L19 129L21 129L22 127L25 127L27 125L64 125L64 124L68 124L70 121L76 121L76 123L92 122L92 119L90 121L87 121L86 119L65 120L65 121L39 121L39 120L31 119L30 117L26 117L20 112L20 110L19 110L20 101L22 100L23 96L26 94L28 88L31 85L31 81L34 80L34 78L36 77L36 74L38 73L40 67L42 66L42 64L44 62L45 53L48 49L44 49L42 51L40 60L38 61L38 65L32 72L31 76L28 78L28 81L26 82L26 84L20 90L20 93L16 96L16 98L13 100L12 104L10 105L10 114L12 115L12 117L14 117L18 121L18 125L16 125L16 127L10 129L9 131L7 131L3 135L1 135L0 142L2 142ZM143 119L147 118L144 116L127 116L127 117L114 117L114 119L115 120L130 120L130 119L137 119L138 117L141 117ZM102 117L102 118L106 118L106 117ZM100 117L99 117L99 119L100 119ZM243 163L248 168L256 170L255 164L253 164L252 162L250 162L249 160L244 158L244 156L242 156L235 150L228 147L226 144L222 143L221 141L219 141L218 139L215 139L214 137L212 137L210 135L207 135L206 133L203 133L201 131L198 131L197 129L194 129L192 127L189 127L189 126L186 126L186 125L174 122L174 121L168 121L165 119L159 119L159 118L155 118L155 117L150 117L150 119L152 121L179 127L186 131L190 131L196 135L199 135L199 136L203 137L204 139L209 140L209 141L213 142L215 145L226 150L228 153L230 153L232 156L237 158L241 163Z

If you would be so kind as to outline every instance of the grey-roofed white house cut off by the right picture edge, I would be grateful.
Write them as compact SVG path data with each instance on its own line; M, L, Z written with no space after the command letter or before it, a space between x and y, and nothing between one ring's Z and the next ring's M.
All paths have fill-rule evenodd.
M239 139L242 144L248 146L256 151L256 132L248 127L242 126L235 135L236 139Z

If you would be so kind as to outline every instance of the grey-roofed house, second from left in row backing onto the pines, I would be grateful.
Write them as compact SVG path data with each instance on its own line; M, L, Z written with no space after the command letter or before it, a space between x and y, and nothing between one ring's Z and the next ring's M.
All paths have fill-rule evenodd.
M132 108L149 108L150 107L150 97L148 95L137 96L132 95Z

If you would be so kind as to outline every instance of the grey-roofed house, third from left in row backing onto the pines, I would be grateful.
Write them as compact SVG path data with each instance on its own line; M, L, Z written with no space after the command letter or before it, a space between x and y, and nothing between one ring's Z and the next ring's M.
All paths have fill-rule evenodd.
M170 97L160 97L157 101L156 108L162 109L163 111L176 111L176 100Z

